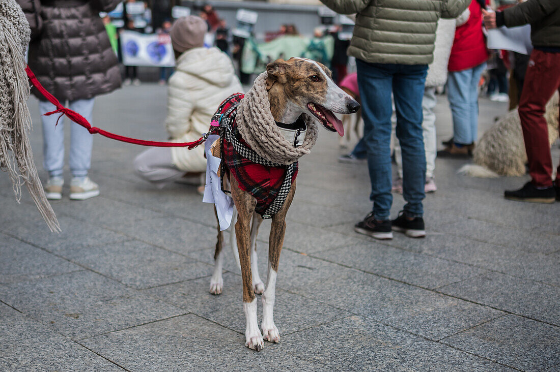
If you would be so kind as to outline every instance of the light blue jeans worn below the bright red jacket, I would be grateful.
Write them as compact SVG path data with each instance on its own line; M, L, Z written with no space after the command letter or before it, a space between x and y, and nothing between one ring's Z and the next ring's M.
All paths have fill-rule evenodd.
M453 117L453 140L470 145L478 138L478 82L486 62L463 71L450 72L447 99Z

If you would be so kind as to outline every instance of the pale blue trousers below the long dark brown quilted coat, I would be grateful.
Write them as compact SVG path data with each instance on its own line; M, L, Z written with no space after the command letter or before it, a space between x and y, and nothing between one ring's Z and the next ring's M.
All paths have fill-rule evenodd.
M64 102L62 102L64 105ZM70 110L86 118L91 123L94 110L94 98L77 100L68 103ZM43 121L43 167L49 177L61 177L64 168L64 117L60 114L43 116L46 112L57 108L48 101L39 101L41 121ZM91 166L91 149L94 137L86 128L74 123L70 124L70 170L73 177L86 177Z

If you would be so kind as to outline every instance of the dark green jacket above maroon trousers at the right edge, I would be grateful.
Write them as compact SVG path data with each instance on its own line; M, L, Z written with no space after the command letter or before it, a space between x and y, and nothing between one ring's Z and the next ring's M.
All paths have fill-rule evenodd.
M497 14L496 23L501 23ZM533 46L560 47L560 0L529 0L503 10L503 24L507 27L526 23L531 24Z

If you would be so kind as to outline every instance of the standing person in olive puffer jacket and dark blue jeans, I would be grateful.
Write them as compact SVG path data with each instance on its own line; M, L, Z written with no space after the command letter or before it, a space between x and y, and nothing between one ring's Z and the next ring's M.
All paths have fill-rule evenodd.
M357 233L393 238L392 229L424 237L423 206L426 157L422 139L422 96L433 60L437 20L456 18L469 0L321 0L333 11L357 13L348 54L356 57L365 124L364 142L373 210L354 226ZM407 201L391 221L391 93L395 98L396 135L403 154L403 196Z

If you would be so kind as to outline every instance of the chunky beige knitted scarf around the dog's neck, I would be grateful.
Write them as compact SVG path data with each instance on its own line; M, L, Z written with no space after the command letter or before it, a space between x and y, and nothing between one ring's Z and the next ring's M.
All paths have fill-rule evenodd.
M288 142L270 112L266 79L266 72L255 79L253 87L241 100L235 121L241 137L256 153L274 163L292 164L311 152L317 140L318 125L304 114L308 128L304 143L295 147Z

